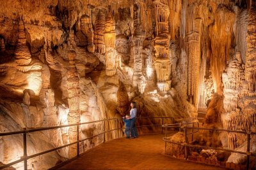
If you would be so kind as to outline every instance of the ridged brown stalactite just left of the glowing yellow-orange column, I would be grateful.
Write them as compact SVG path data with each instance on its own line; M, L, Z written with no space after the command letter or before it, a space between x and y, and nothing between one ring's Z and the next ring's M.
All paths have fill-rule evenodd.
M100 10L95 21L94 31L94 44L95 51L99 53L105 53L105 42L104 42L104 27L105 27L105 15L104 11Z

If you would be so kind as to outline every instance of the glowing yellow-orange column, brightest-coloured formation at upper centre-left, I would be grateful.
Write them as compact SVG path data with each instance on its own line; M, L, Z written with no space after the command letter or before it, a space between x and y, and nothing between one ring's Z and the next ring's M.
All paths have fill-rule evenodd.
M106 75L113 76L116 73L116 50L115 50L115 22L111 13L109 12L106 17L105 30L104 30L104 41L106 47Z

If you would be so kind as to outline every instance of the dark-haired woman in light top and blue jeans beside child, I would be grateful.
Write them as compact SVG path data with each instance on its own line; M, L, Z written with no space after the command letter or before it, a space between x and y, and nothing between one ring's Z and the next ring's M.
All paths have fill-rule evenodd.
M132 102L131 103L132 109L130 110L130 118L131 119L131 126L130 126L130 131L131 131L131 138L138 138L138 131L136 127L136 116L137 116L137 109L136 109L136 103Z

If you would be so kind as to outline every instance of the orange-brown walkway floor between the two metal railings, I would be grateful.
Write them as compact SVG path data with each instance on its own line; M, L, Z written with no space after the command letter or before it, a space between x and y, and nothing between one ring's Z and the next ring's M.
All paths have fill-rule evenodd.
M58 169L223 169L165 156L164 134L108 141Z

